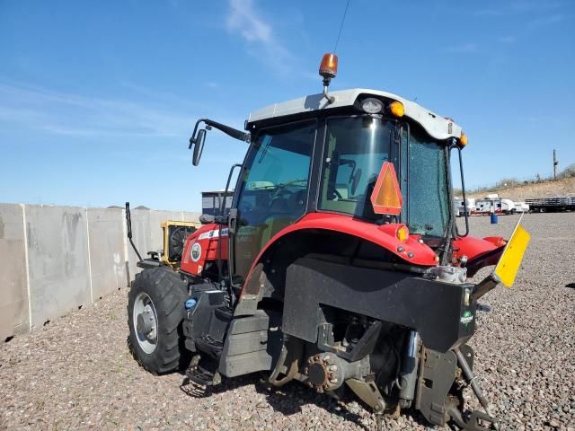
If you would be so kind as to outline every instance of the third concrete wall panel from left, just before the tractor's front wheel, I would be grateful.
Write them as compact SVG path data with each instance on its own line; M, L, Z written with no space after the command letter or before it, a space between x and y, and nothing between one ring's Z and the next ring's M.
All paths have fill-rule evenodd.
M128 286L124 211L88 208L92 302ZM127 241L127 240L126 240Z

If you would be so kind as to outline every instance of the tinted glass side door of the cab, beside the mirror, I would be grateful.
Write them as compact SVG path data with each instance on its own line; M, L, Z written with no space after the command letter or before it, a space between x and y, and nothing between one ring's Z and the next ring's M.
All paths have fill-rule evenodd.
M243 284L261 249L305 214L316 121L263 128L243 163L234 207L234 279Z

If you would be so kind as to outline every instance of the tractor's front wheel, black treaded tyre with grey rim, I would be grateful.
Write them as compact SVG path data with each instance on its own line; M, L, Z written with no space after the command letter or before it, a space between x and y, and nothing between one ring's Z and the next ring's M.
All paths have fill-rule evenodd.
M189 361L181 321L187 285L170 268L145 269L128 293L128 345L137 362L153 374L178 370Z

